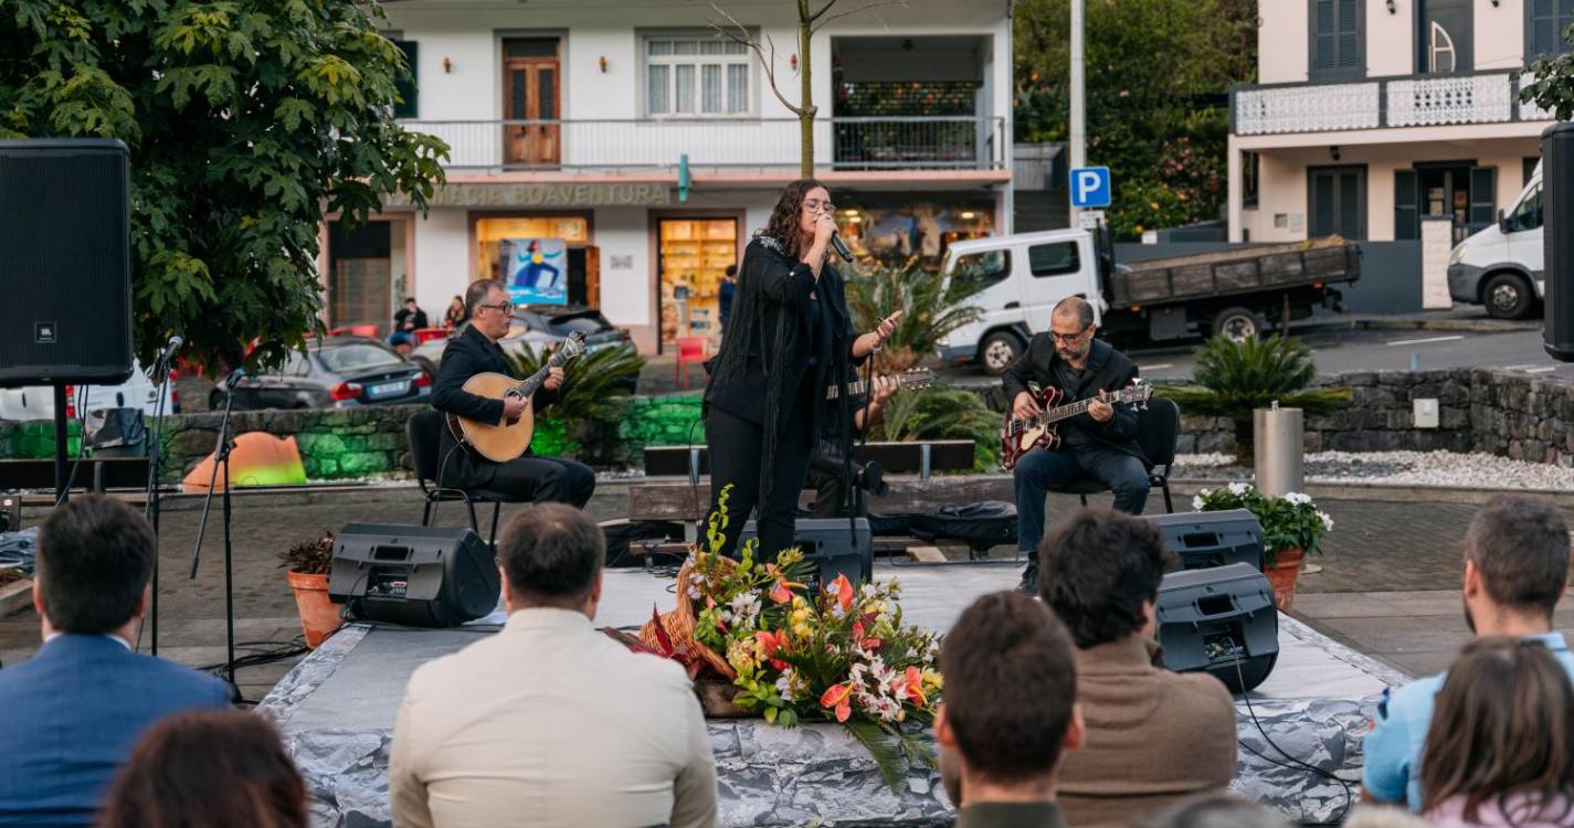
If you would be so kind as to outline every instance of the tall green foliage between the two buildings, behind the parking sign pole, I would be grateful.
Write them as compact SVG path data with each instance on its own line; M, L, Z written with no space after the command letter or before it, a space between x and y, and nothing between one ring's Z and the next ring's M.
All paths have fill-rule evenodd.
M1218 217L1229 110L1256 76L1250 0L1088 0L1088 161L1114 175L1118 238ZM1017 140L1069 132L1070 6L1023 0L1015 14Z

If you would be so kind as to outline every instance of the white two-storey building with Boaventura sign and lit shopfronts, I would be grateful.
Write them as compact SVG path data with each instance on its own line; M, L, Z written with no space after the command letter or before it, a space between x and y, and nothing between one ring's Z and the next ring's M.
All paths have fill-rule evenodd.
M774 44L796 101L796 3L718 5ZM910 0L829 19L861 6L842 0L812 36L815 176L861 258L938 266L952 241L1011 230L1009 6ZM472 280L508 279L510 255L541 242L562 249L568 304L600 309L642 353L719 334L721 274L798 178L800 124L708 3L386 9L416 68L401 121L449 142L447 184L425 217L400 198L357 233L331 217L331 327L382 332L406 294L438 324Z

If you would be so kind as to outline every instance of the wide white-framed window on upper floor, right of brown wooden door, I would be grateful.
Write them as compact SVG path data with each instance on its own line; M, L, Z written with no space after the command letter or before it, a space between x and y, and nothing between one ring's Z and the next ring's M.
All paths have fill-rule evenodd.
M645 115L718 118L751 115L754 57L741 43L710 36L645 39Z

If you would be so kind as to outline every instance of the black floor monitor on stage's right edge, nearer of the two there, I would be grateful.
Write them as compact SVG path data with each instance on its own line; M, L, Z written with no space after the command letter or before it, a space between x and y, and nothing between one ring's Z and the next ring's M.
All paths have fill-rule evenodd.
M1154 615L1165 667L1207 672L1231 693L1261 685L1278 661L1273 587L1250 564L1166 575Z

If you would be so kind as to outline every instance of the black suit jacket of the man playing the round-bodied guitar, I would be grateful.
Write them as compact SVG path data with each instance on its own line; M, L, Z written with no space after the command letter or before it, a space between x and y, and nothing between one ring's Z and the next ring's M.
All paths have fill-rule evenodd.
M464 383L478 373L508 371L508 360L502 356L502 348L486 338L474 324L464 326L458 335L449 340L442 349L442 364L438 368L438 381L431 386L431 408L445 414L458 414L480 422L502 422L502 400L488 400L464 390ZM543 408L557 401L557 392L546 386L537 389L530 405L537 414ZM491 483L497 463L477 455L467 445L460 445L453 439L453 431L444 427L442 441L438 444L439 483L444 486L477 488Z

